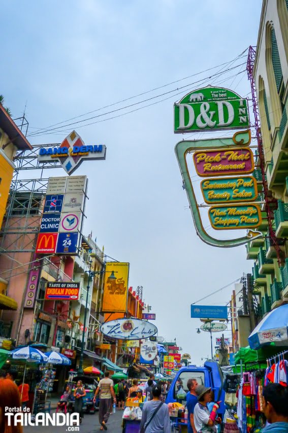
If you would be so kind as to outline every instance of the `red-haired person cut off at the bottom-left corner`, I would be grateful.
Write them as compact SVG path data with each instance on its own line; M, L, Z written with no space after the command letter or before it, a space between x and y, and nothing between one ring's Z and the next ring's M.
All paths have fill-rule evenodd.
M9 408L9 409L7 409ZM16 384L10 379L3 379L0 381L0 431L1 433L22 433L23 428L18 422L14 425L13 417L18 413L17 409L21 408L20 394ZM11 417L11 425L8 426L8 417L5 412L9 411L13 416Z

